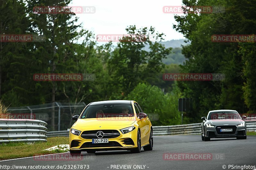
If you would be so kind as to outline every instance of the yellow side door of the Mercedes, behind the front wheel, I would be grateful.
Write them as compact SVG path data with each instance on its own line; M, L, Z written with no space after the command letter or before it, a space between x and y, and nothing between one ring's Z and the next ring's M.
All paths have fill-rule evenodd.
M135 107L136 113L137 112L143 113L142 109L135 102L134 102L134 107ZM139 113L137 115L139 115ZM150 133L149 133L150 127L149 127L148 117L140 119L140 124L141 124L141 127L140 127L141 144L145 144L149 141L149 135L150 135Z

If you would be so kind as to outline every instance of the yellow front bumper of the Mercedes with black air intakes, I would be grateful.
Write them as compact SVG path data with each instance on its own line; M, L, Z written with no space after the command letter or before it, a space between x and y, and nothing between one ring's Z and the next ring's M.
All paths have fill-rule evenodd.
M108 143L101 144L92 144L92 139L84 139L83 137L81 137L81 134L83 132L81 132L79 136L69 132L69 148L71 151L130 150L137 147L137 131L138 129L136 128L131 132L123 134L118 129L120 136L115 138L108 138ZM94 139L97 139L97 137L95 137Z

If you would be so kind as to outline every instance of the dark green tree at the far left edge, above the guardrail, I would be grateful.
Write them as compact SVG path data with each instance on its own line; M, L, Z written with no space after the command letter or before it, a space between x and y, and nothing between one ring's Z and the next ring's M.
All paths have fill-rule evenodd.
M25 3L18 0L0 0L0 35L26 34L30 25ZM29 58L26 42L0 41L0 98L7 105L27 102L27 74L24 62Z

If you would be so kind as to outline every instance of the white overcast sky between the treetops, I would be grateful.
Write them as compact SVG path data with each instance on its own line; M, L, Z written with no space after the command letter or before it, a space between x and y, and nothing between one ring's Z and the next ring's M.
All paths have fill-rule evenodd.
M163 6L179 6L181 0L73 0L70 6L94 6L93 14L77 14L85 29L97 34L125 34L125 28L154 26L166 35L165 41L183 39L172 26L174 14L163 12ZM180 15L180 14L178 14Z

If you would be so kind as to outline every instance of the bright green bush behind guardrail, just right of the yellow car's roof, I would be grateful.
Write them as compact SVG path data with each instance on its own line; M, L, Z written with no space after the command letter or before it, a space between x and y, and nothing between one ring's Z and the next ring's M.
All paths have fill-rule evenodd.
M180 91L173 85L172 93L164 94L156 86L138 84L126 97L127 100L135 100L147 114L158 114L158 121L151 121L153 126L176 125L181 123L181 115L178 111L178 99Z

